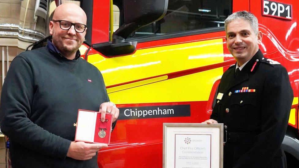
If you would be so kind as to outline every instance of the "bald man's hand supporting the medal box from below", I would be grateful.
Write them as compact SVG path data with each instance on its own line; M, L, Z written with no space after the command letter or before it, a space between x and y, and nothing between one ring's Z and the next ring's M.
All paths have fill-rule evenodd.
M88 144L85 142L71 142L66 156L76 160L89 160L96 155L101 148L108 147L107 144Z

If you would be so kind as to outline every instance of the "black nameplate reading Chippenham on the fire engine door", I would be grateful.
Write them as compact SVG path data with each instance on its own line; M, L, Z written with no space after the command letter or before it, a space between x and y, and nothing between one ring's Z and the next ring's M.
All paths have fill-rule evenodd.
M139 106L119 108L118 120L165 118L165 117L189 117L190 104L171 106Z

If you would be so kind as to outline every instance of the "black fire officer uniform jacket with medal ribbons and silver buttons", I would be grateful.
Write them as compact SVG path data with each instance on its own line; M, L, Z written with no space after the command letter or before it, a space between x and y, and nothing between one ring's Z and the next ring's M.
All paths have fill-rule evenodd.
M293 90L286 69L259 50L235 76L222 76L211 119L224 123L224 167L279 167ZM227 133L226 133L227 132Z

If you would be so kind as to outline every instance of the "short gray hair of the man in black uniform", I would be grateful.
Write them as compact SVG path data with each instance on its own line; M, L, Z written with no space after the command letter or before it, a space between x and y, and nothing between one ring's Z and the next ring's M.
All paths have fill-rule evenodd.
M259 33L259 23L257 21L257 18L252 13L247 12L246 10L235 12L229 15L229 17L225 19L224 21L225 32L227 30L227 25L236 19L244 19L251 25L251 28L253 29L255 35Z

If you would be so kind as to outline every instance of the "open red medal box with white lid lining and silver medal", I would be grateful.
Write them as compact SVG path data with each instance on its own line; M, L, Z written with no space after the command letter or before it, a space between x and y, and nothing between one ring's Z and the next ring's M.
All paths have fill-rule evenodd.
M110 113L106 113L102 122L100 112L79 109L75 141L110 144L112 120Z

